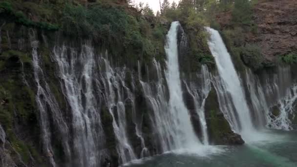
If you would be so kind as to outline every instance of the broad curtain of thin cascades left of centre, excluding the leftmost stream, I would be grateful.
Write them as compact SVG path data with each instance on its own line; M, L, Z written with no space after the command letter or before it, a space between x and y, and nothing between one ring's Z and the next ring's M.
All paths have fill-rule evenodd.
M111 67L107 53L95 55L90 44L84 44L81 53L71 47L54 48L62 89L71 107L73 146L76 164L97 167L106 157L106 136L101 123L100 110L107 108L112 117L113 132L119 163L137 159L127 132L127 113L135 124L135 135L142 142L142 155L147 148L139 124L136 123L134 95L126 85L127 69ZM133 80L131 81L133 82ZM132 83L131 83L132 84ZM131 109L127 109L131 105Z

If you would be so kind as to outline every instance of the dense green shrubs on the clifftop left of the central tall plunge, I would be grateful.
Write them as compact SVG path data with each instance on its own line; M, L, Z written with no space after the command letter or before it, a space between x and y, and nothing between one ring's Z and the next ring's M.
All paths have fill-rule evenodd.
M121 6L97 3L90 7L67 4L63 12L64 33L99 42L112 55L122 55L135 63L139 56L145 60L164 55L165 27L137 15L130 15ZM115 49L116 48L116 49ZM118 57L121 59L120 57Z

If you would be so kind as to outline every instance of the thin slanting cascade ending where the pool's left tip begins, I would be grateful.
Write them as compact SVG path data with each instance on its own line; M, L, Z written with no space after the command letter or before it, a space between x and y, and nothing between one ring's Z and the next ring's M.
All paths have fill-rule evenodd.
M127 163L130 160L136 159L136 155L130 142L128 140L127 135L127 122L126 122L126 108L125 108L125 99L124 92L122 87L124 87L129 94L130 90L125 86L125 68L119 71L114 71L110 66L109 62L103 59L105 62L105 76L103 78L106 80L106 92L105 95L107 97L106 103L108 104L109 113L113 117L113 128L118 141L117 151L119 156L121 157L122 163ZM129 98L129 97L128 97ZM129 100L133 99L130 97ZM113 112L113 110L116 112ZM115 119L115 114L117 115L117 121Z

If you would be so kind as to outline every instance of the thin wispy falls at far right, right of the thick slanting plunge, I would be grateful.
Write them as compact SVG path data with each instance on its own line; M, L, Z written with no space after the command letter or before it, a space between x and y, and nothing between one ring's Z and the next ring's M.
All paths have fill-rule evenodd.
M264 83L261 83L259 77L250 69L246 70L255 123L259 127L292 129L289 117L294 117L297 86L293 84L290 74L290 67L279 66L272 77L265 73L262 76Z

